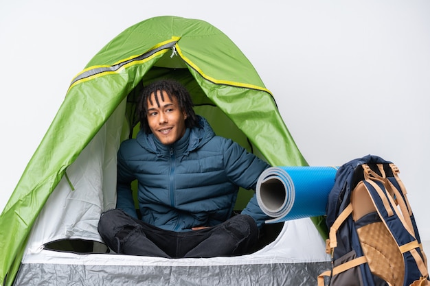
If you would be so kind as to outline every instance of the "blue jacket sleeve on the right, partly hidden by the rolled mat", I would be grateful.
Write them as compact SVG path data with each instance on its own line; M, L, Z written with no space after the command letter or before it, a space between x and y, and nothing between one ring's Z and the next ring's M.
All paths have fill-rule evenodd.
M270 167L269 164L229 139L226 141L224 154L227 176L234 184L244 189L255 190L260 174ZM259 228L262 227L264 221L270 219L258 205L256 193L249 200L242 214L251 216Z

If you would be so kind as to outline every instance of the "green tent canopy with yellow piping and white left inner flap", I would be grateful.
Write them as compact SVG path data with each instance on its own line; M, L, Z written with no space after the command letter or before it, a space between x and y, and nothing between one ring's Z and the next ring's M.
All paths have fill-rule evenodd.
M96 226L115 206L116 151L135 124L134 97L157 78L179 80L198 107L218 108L271 165L307 165L270 91L225 34L175 16L142 21L71 81L0 215L0 229L8 230L0 232L0 282L7 276L11 285L25 257L45 243L101 241Z

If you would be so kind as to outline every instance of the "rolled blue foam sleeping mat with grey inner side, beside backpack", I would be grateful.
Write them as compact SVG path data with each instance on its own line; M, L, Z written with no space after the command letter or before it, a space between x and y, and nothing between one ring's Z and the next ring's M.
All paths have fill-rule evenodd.
M337 167L270 167L258 178L260 208L273 217L267 223L326 215L328 193Z

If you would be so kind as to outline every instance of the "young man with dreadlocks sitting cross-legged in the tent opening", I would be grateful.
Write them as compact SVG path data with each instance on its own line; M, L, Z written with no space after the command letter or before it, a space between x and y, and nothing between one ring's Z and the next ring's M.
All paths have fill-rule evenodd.
M117 208L99 233L115 252L155 257L217 257L249 252L267 216L256 195L231 217L238 187L255 189L269 165L216 136L194 113L179 83L161 80L142 93L136 139L118 151ZM137 218L131 182L138 182Z

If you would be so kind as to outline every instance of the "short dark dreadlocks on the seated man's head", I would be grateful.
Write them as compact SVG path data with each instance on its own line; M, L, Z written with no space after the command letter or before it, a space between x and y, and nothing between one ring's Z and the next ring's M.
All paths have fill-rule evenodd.
M159 80L157 82L152 82L145 86L142 95L137 102L137 115L140 121L140 128L144 130L146 133L151 133L148 124L148 100L150 104L152 104L151 95L157 95L158 92L161 95L161 100L164 101L164 96L162 91L166 91L170 100L172 97L176 97L179 108L181 111L185 111L187 118L185 119L185 127L193 128L199 126L199 120L196 117L196 113L194 112L190 93L188 93L187 89L174 80ZM155 102L157 102L157 106L160 106L158 97L155 96Z

